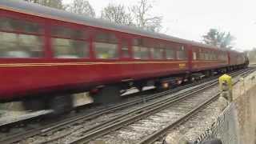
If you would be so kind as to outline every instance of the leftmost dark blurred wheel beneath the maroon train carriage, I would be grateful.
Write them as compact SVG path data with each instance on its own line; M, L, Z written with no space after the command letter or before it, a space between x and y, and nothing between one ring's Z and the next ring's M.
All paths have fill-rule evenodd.
M45 103L46 103L45 98L29 98L22 102L25 110L32 110L32 111L45 110L46 109Z

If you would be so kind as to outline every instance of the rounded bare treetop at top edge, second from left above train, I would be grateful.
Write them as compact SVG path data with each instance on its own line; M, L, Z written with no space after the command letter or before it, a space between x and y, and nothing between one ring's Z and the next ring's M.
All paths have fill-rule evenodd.
M75 14L83 14L89 17L95 17L95 11L90 3L86 0L74 0L67 6L67 10Z

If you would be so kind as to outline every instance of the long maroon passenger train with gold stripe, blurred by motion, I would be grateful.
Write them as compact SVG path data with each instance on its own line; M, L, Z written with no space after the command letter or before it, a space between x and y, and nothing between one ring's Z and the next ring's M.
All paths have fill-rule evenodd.
M0 36L2 102L67 106L70 94L95 89L106 102L131 84L181 83L245 63L237 52L19 1L0 2Z

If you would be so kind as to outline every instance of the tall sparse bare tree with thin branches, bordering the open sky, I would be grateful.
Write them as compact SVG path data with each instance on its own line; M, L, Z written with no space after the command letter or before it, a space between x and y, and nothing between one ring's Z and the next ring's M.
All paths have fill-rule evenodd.
M158 32L162 28L162 16L152 16L153 8L149 0L140 0L138 5L132 6L130 11L134 14L135 24L142 29Z

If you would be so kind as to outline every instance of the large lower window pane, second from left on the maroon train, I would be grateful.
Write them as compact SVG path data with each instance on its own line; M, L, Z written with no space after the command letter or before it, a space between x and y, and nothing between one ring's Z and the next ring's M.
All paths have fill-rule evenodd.
M52 38L55 58L88 58L89 45L87 42Z

